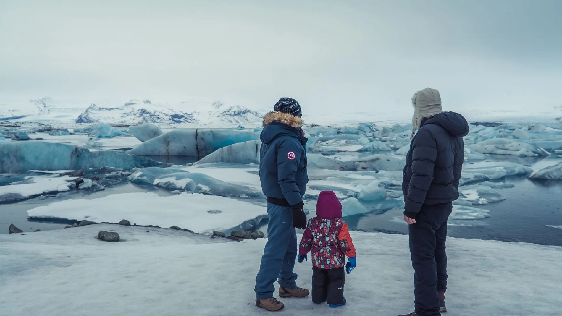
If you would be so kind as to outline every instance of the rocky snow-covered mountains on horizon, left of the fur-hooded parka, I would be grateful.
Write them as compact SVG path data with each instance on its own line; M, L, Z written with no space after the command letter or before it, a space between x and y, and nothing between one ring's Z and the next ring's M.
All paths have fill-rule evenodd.
M150 100L130 100L123 106L117 107L101 107L92 104L76 118L75 122L241 125L260 122L262 117L263 115L257 111L242 106L225 106L222 102L183 102L174 106L152 103Z

